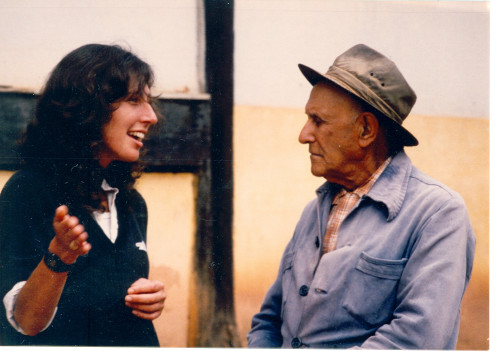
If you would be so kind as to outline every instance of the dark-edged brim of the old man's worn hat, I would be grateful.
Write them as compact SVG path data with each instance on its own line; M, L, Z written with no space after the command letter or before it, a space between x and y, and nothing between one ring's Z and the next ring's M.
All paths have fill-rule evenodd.
M377 111L379 111L385 119L389 122L391 130L388 132L391 133L394 137L396 137L403 146L417 146L418 145L418 140L411 134L408 130L406 130L401 124L398 122L394 121L392 118L388 117L385 115L384 112L380 111L377 106L372 104L370 101L364 99L362 96L360 96L356 91L354 91L351 87L349 87L347 84L342 82L341 80L335 79L335 77L327 76L324 74L319 73L318 71L303 65L299 63L299 69L306 77L306 79L311 83L311 85L315 85L320 81L326 81L335 84L336 86L344 89L348 93L356 96L357 98L363 100L373 108L375 108Z

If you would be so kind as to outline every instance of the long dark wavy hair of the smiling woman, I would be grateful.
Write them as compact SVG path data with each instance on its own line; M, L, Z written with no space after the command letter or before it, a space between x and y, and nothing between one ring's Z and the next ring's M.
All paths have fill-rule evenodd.
M103 170L96 147L113 106L143 96L153 83L151 67L120 46L88 44L70 52L40 94L35 118L21 140L23 163L48 172L64 201L80 206L93 207L104 172L113 186L131 191L142 163L114 161Z

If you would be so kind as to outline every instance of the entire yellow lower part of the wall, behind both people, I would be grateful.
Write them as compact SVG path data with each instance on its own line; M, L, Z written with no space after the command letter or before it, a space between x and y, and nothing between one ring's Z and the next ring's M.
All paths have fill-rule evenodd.
M235 109L235 301L243 345L299 215L323 182L310 174L307 146L297 141L304 121L302 109ZM488 349L488 120L411 116L405 125L420 141L407 149L414 164L462 194L469 209L478 240L458 348ZM0 186L10 174L0 172ZM138 184L150 213L151 278L167 292L155 322L162 346L186 346L195 181L190 174L152 173Z

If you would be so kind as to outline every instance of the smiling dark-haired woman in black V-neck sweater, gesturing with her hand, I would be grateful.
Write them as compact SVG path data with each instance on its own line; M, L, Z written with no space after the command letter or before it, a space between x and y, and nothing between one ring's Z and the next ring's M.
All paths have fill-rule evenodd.
M148 279L134 189L153 80L134 54L98 44L50 75L0 199L0 344L158 346L165 292Z

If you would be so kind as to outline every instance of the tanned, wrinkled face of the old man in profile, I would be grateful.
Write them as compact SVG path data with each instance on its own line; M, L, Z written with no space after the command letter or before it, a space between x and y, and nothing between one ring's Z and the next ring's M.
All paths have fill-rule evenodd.
M299 142L309 144L312 174L348 184L355 176L356 162L361 162L358 104L342 89L320 82L313 86L305 112L307 122Z

